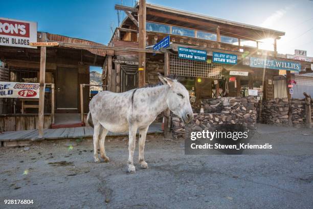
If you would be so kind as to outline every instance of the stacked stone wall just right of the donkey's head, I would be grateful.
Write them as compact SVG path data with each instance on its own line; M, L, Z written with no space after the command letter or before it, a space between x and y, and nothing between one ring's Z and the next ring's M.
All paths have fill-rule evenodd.
M190 122L192 131L214 128L217 124L242 124L249 129L256 128L258 102L254 98L222 97L204 99L204 113L194 113ZM177 116L172 116L172 130L175 139L185 136L185 124Z

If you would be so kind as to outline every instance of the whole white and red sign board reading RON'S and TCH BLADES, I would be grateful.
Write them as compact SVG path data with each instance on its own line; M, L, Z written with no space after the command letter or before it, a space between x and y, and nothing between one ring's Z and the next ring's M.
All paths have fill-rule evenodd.
M37 48L37 23L0 17L0 46Z

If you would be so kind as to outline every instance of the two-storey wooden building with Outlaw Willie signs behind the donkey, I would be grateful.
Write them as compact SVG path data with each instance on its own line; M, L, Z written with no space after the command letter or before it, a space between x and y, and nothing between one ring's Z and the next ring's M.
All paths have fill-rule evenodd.
M168 54L168 64L163 53L146 53L143 72L145 84L158 82L157 73L160 72L178 76L197 100L216 96L247 96L248 89L258 90L259 98L271 99L287 96L290 71L287 71L286 78L280 76L280 70L285 68L252 66L250 60L264 59L286 64L296 62L301 65L302 72L310 71L311 62L287 59L286 55L277 53L276 43L284 32L158 5L146 4L144 7L146 48L152 49L168 35L171 43L166 50L161 50ZM116 28L108 45L141 48L143 39L140 40L140 19L138 22L140 5L134 8L116 5L116 9L124 10L127 17ZM205 50L207 61L181 59L177 56L178 47ZM237 63L216 63L213 53L236 55ZM139 59L139 53L136 52L115 51L113 56L106 56L103 82L108 85L109 91L123 92L140 86ZM277 90L274 83L277 89L283 87L284 90L275 94Z

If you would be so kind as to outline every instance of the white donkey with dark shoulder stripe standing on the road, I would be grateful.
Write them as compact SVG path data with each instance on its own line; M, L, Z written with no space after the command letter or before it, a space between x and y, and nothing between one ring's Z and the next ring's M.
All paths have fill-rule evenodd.
M94 158L99 162L100 156L105 162L109 158L105 154L104 140L107 133L129 131L128 141L128 172L135 173L133 152L136 146L136 133L139 129L139 163L147 169L144 160L146 135L150 124L158 114L169 108L181 117L185 123L193 119L193 113L186 88L177 80L159 74L164 85L133 89L123 93L103 91L98 93L89 104L90 112L87 121L94 127ZM99 141L100 135L100 141Z

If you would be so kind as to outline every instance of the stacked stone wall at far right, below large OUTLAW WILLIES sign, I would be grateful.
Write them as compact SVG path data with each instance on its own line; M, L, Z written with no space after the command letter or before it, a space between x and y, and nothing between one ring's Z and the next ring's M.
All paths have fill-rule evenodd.
M312 103L311 108L313 108ZM287 98L263 101L260 121L283 126L289 126L289 122L293 126L303 125L306 123L304 99L292 99L290 104Z

